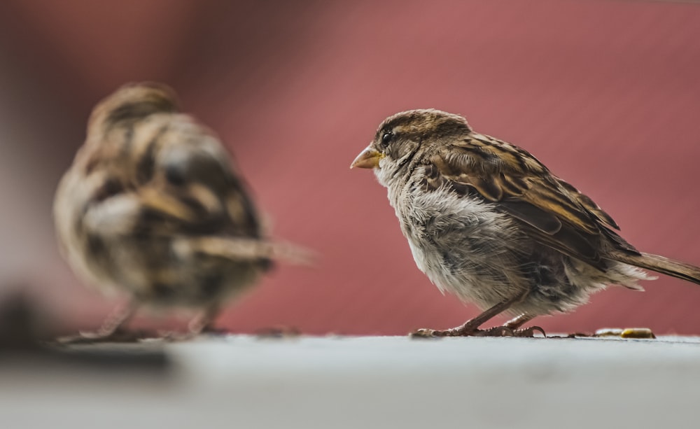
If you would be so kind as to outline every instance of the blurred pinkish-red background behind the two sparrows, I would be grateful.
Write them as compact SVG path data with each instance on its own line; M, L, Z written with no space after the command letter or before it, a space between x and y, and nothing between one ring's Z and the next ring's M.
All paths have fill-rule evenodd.
M645 1L4 0L0 281L69 323L114 302L59 258L50 207L90 109L160 80L235 153L275 237L319 254L282 266L220 325L405 334L477 314L415 267L386 191L351 160L387 115L441 108L518 144L584 190L643 251L700 265L700 6ZM611 288L547 331L700 334L700 287Z

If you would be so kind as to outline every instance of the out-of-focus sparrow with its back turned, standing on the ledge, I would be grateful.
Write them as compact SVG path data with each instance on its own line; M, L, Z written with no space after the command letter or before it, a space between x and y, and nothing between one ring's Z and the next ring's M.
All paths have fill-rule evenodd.
M130 297L90 338L113 338L142 306L197 311L190 331L209 330L223 304L286 253L265 237L218 136L158 83L125 85L97 104L54 218L76 275Z

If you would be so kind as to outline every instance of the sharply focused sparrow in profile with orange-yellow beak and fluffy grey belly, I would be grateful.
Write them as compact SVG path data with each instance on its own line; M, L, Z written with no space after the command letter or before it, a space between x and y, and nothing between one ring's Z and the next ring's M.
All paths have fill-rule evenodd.
M381 122L351 168L373 169L416 265L482 313L419 337L533 336L537 316L566 313L610 285L642 290L642 269L700 284L700 268L643 253L592 199L526 150L434 109ZM640 269L642 268L642 269ZM497 314L514 316L482 330Z

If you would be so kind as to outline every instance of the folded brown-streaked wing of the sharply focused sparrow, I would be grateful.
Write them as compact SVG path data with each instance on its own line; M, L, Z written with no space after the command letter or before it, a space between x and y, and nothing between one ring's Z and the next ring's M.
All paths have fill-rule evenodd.
M426 186L479 195L517 219L533 239L603 269L598 249L609 240L636 250L589 197L549 172L526 150L483 134L444 146L429 157Z

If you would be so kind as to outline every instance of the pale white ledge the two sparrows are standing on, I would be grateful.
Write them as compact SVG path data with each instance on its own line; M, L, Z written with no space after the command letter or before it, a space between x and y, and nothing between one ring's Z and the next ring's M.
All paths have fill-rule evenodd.
M72 350L162 350L172 365L2 364L3 428L691 428L700 399L697 337L236 335Z

